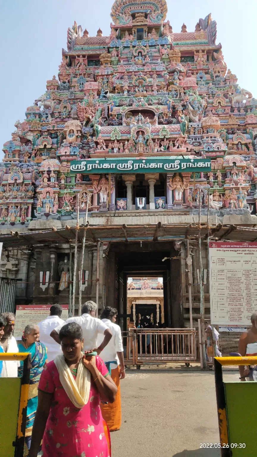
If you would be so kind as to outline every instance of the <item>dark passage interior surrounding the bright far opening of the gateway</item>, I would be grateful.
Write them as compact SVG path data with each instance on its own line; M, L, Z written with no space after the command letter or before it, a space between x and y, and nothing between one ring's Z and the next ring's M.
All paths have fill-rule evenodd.
M108 277L106 281L106 304L118 309L118 324L127 330L127 320L131 316L131 309L127 307L127 278L128 276L162 277L164 319L161 324L166 327L182 328L183 307L181 303L181 260L172 259L179 252L173 248L171 242L129 242L113 243L107 254ZM167 258L166 260L163 260ZM136 305L136 322L139 325L139 314L147 324L152 315L152 324L157 323L156 305L147 308L140 300ZM112 304L111 304L112 303ZM141 307L141 309L140 309ZM141 323L140 323L141 325Z

